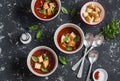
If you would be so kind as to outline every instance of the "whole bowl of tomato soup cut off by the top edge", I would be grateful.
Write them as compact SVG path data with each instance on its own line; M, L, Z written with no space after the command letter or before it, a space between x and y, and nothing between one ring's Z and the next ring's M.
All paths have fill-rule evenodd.
M34 16L43 21L57 17L61 9L60 0L32 0L31 10Z

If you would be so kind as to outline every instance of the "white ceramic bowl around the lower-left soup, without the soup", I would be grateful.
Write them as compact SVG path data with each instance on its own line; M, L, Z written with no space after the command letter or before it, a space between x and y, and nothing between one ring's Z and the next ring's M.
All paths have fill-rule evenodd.
M35 72L35 71L32 69L32 66L31 66L31 64L30 64L31 56L33 55L34 52L36 52L36 51L39 50L39 49L46 49L46 50L50 51L50 52L53 54L53 56L55 57L55 66L54 66L53 70L50 71L49 73L39 74L39 73ZM57 69L57 66L58 66L58 58L57 58L56 53L55 53L51 48L49 48L49 47L47 47L47 46L38 46L38 47L32 49L32 50L30 51L30 53L28 54L28 57L27 57L27 66L28 66L29 70L30 70L34 75L36 75L36 76L41 76L41 77L49 76L49 75L51 75L52 73L54 73L54 71Z

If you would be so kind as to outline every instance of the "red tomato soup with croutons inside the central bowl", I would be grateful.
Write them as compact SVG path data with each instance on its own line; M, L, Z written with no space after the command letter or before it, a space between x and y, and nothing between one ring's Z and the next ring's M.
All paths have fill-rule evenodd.
M66 27L58 33L57 42L64 51L74 51L81 44L81 35L75 28Z

